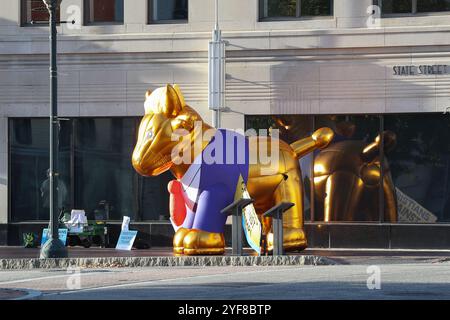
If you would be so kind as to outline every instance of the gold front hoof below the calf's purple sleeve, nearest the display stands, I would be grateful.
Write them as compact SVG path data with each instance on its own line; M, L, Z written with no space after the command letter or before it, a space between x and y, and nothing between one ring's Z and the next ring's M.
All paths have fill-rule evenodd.
M191 230L183 241L184 254L221 255L225 253L225 239L222 233Z

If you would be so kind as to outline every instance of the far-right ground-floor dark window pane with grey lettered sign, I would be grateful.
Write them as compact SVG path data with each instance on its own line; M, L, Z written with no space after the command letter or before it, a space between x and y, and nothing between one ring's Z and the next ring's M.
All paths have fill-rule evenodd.
M385 128L397 135L397 145L388 157L399 222L449 222L450 117L387 115Z

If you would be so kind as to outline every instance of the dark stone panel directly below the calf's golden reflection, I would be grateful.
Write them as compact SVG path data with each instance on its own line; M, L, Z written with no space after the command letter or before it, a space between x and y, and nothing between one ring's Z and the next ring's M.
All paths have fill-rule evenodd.
M331 248L389 249L388 225L328 225Z

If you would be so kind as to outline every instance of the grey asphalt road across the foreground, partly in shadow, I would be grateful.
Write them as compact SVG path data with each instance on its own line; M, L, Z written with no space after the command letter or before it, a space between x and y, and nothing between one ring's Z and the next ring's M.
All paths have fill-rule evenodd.
M353 264L1 271L0 288L39 290L43 299L64 300L450 300L448 261L379 264L370 270L368 267ZM374 287L379 279L380 289L370 290L368 279Z

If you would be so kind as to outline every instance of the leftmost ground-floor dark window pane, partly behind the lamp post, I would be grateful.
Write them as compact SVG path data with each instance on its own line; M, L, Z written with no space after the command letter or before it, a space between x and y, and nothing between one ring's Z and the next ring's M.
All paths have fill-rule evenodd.
M11 220L49 219L49 121L10 120ZM70 206L70 124L61 123L58 206Z

